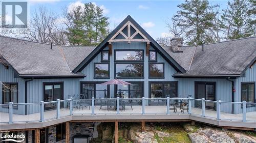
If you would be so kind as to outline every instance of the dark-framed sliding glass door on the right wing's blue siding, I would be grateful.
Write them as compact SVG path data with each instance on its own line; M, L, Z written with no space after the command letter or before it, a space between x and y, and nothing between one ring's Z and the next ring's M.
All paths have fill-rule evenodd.
M216 101L216 82L195 82L195 95L197 99ZM195 106L201 108L201 101L196 101ZM205 102L205 108L216 110L216 103Z

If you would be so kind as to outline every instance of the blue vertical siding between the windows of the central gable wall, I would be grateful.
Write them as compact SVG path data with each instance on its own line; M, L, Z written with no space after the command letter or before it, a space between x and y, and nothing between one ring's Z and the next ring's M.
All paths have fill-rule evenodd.
M94 64L93 63L101 63L101 55L98 54L95 59L91 61L90 64L87 65L81 72L86 75L84 79L80 81L108 81L112 80L115 77L115 62L114 62L114 50L116 49L142 49L144 50L144 79L143 78L124 78L122 80L125 81L144 81L144 97L148 98L148 81L177 81L177 79L173 78L172 75L177 71L170 66L160 54L157 54L157 62L164 63L164 76L165 78L159 79L148 79L148 56L146 56L146 42L131 42L128 44L127 42L112 42L112 53L113 55L110 56L110 79L94 79ZM150 49L153 49L152 47ZM114 85L110 85L110 96L114 96Z

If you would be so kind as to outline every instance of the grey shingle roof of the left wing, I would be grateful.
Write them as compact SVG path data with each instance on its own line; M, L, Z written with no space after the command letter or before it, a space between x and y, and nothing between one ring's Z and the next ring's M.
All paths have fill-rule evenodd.
M9 37L0 37L0 52L19 77L84 77L72 73L95 47L57 46ZM85 50L86 49L86 50Z

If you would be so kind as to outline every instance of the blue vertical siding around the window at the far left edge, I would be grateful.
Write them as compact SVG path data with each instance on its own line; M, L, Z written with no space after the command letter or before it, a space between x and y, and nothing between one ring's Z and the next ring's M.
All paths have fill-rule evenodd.
M12 67L9 67L9 69L6 69L3 64L0 64L0 81L1 82L17 82L18 83L18 103L24 103L25 102L25 80L22 78L14 78L14 71ZM3 103L3 95L2 95L2 86L0 85L0 103ZM8 107L0 107L0 110L2 112L8 112ZM19 105L18 108L13 108L13 113L17 114L24 114L25 113L25 106Z

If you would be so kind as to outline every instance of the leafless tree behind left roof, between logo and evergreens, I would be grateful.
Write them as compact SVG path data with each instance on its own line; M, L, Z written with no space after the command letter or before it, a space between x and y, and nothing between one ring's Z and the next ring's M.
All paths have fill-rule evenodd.
M45 7L39 7L31 18L26 39L42 43L50 43L52 33L55 29L57 16Z

